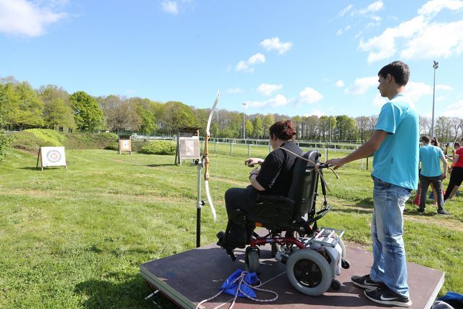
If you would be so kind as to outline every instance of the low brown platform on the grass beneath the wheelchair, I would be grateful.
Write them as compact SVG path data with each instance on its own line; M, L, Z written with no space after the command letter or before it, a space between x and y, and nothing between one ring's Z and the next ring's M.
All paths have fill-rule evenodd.
M270 245L262 246L259 279L262 288L278 293L271 303L256 303L239 298L234 308L377 308L376 303L364 296L364 290L350 282L352 275L368 274L373 261L371 252L346 246L350 269L342 269L338 291L328 290L323 296L312 297L296 291L286 276L286 265L270 257ZM149 285L172 299L180 308L195 308L197 303L217 292L224 280L236 269L244 269L244 251L238 251L232 262L225 251L208 245L140 265L140 274ZM444 284L444 273L414 263L408 263L408 283L413 302L411 308L430 308ZM272 298L271 294L257 292L259 299ZM203 308L228 308L232 296L221 294L204 303ZM222 306L221 306L222 305ZM379 307L382 307L379 305ZM391 308L391 306L384 306Z

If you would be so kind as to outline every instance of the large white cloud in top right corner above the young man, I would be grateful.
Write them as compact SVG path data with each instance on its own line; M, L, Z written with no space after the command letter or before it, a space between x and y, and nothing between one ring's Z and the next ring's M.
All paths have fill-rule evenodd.
M405 59L449 57L463 52L463 20L432 22L441 10L462 10L463 1L431 0L425 3L416 17L385 29L368 40L361 38L359 49L368 52L368 63L400 54ZM443 35L445 33L445 35Z

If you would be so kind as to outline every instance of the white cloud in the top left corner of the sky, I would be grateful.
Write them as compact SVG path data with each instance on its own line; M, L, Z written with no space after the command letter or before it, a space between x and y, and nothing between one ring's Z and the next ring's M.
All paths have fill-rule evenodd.
M45 26L58 22L66 13L53 12L53 3L31 3L26 0L0 0L0 32L12 35L40 36Z

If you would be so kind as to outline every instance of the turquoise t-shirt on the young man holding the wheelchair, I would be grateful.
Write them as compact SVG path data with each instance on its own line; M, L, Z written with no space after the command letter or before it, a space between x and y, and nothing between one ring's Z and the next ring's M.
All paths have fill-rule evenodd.
M418 188L419 122L412 100L396 95L382 106L375 130L389 133L373 157L373 173L389 184Z

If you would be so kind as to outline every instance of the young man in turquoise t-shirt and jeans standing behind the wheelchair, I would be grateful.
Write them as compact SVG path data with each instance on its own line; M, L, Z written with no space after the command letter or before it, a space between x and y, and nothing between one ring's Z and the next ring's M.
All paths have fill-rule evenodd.
M373 265L370 274L352 276L371 301L400 307L412 306L407 285L407 260L403 242L403 209L412 189L418 187L419 122L414 104L403 92L409 79L408 65L394 61L378 72L377 87L389 102L382 106L371 138L347 157L328 160L339 168L373 157L374 182ZM375 289L375 290L373 290Z

